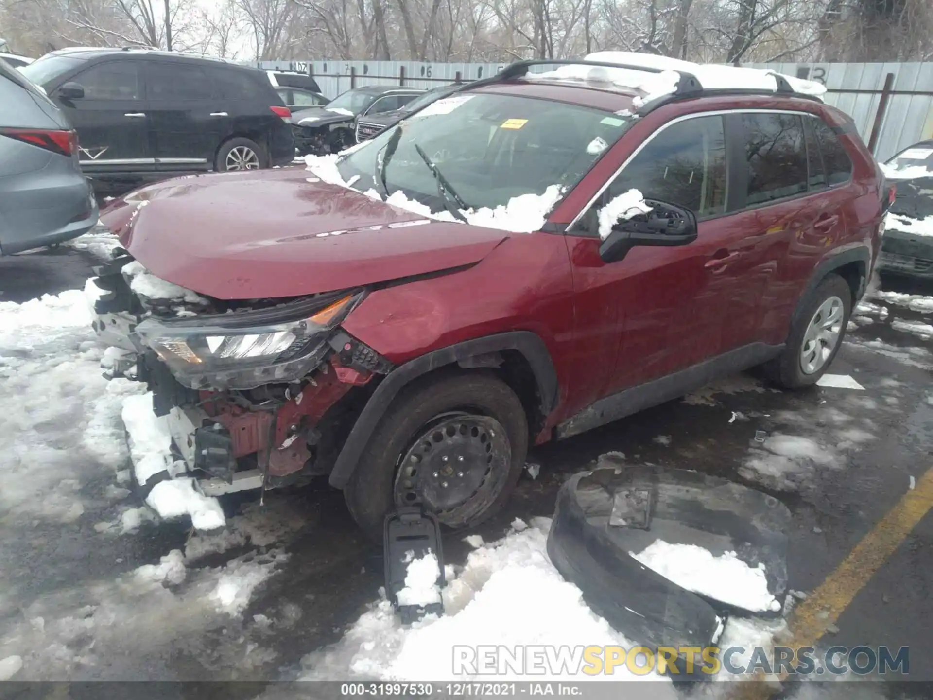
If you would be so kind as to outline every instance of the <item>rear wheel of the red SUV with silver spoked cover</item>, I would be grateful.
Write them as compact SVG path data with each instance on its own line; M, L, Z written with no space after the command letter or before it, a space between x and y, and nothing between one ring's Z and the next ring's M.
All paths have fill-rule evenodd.
M790 329L787 345L764 365L765 374L789 389L814 385L842 347L852 313L852 290L838 274L828 274L801 300L801 313Z

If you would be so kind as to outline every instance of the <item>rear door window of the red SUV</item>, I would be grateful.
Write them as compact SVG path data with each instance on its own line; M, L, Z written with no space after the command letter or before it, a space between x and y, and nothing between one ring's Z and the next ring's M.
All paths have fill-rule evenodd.
M807 191L807 150L800 115L744 113L746 205L763 204Z

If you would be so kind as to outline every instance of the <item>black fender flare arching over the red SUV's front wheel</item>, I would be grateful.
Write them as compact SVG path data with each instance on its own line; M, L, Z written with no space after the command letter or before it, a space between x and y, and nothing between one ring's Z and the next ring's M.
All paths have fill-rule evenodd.
M366 449L373 431L379 425L379 421L382 420L392 400L405 385L429 371L461 362L469 357L487 355L501 350L517 350L522 353L535 374L542 414L548 415L553 411L557 406L559 394L557 371L550 358L548 346L536 333L528 330L512 330L483 338L474 338L463 343L454 343L421 357L415 357L385 376L357 416L350 435L343 443L341 454L337 456L334 469L330 472L328 480L330 485L343 488L350 481L359 457Z

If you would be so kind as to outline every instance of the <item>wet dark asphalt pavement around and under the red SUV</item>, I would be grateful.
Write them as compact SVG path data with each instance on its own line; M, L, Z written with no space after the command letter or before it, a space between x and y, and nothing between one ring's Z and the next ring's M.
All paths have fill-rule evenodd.
M0 259L0 301L25 301L44 293L83 287L93 259L63 247ZM933 289L884 281L885 289L933 296ZM599 455L621 452L629 463L697 469L735 479L781 498L794 513L788 579L792 589L815 589L859 539L889 511L933 462L933 350L928 340L891 328L894 318L930 323L905 307L871 300L889 310L851 332L830 371L850 374L865 391L814 387L782 393L752 375L738 375L628 419L573 439L536 448L536 480L527 474L504 512L479 532L497 539L515 517L550 516L564 479L592 467ZM866 345L880 339L884 344ZM904 348L913 348L905 350ZM881 352L879 352L879 349ZM733 416L735 416L733 418ZM823 466L801 462L791 484L749 469L759 454L755 437L795 435L827 445ZM866 437L866 435L870 437ZM759 455L761 456L761 455ZM764 455L768 459L771 455ZM765 460L767 462L767 459ZM100 485L100 484L99 484ZM240 514L249 537L221 553L206 553L198 566L217 567L231 557L283 548L290 558L252 595L243 619L217 624L197 636L182 632L153 642L141 656L127 648L111 654L89 678L274 679L288 676L300 658L337 641L382 584L381 552L362 538L340 492L327 484L267 494L264 505L251 495L230 497L225 509ZM31 580L31 595L55 598L76 581L113 579L122 572L158 563L174 548L184 549L188 530L177 524L144 524L138 532L101 539L93 518L76 525L42 526L18 544L7 544L3 560L21 561L7 570L13 580ZM265 543L265 544L262 544ZM257 548L257 545L258 548ZM445 558L462 563L469 547L460 539L444 542ZM849 647L859 644L911 647L911 675L933 680L933 515L929 512L842 613L838 632L824 639ZM21 611L26 617L27 614ZM14 610L4 609L0 621ZM265 615L272 628L254 621ZM262 653L259 653L258 651ZM0 653L0 656L3 656ZM892 686L893 688L893 686ZM906 684L889 696L923 696Z

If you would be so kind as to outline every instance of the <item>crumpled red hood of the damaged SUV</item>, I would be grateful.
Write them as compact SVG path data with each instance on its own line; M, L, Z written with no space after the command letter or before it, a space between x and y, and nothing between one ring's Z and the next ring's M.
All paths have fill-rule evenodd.
M299 168L189 175L111 203L146 269L216 299L359 287L479 262L508 232L436 221Z

